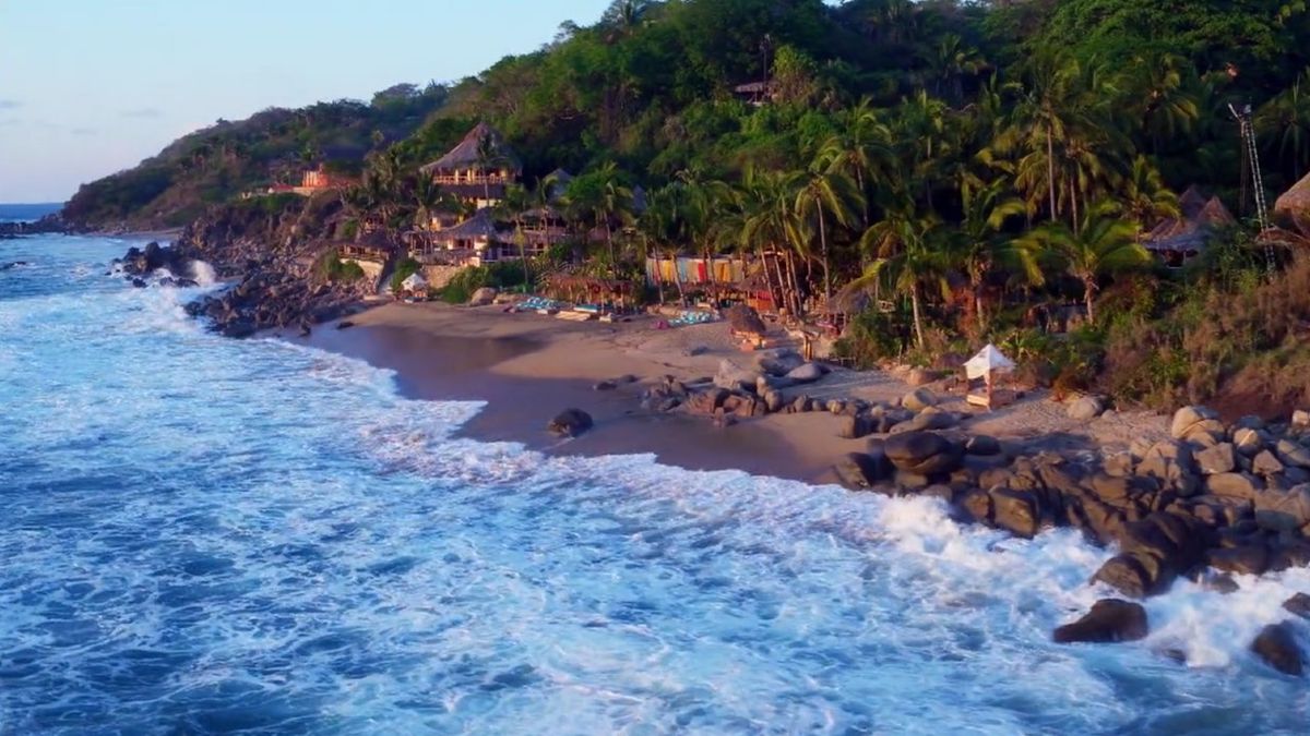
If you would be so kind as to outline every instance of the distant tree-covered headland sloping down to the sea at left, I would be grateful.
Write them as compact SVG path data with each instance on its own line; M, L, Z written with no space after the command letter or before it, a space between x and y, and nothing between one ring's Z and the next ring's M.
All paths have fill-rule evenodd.
M271 107L189 134L134 169L83 185L64 207L79 227L181 227L210 204L274 181L299 183L305 168L358 173L364 156L403 139L447 97L445 88L402 84L369 103Z

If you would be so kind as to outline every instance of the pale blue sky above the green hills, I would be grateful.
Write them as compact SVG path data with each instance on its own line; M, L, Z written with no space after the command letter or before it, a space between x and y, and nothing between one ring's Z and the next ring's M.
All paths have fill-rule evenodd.
M0 202L63 202L219 118L453 81L610 0L0 0Z

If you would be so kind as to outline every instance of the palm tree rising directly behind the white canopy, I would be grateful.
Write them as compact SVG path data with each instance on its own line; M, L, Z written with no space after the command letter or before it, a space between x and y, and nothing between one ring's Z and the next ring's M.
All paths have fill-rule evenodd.
M986 327L982 303L982 284L996 265L1005 265L1024 274L1028 280L1040 282L1041 274L1032 250L1018 245L1002 234L1006 221L1026 215L1028 208L1010 194L1003 179L996 179L979 189L960 187L962 219L952 261L960 265L969 279L973 309L979 322Z

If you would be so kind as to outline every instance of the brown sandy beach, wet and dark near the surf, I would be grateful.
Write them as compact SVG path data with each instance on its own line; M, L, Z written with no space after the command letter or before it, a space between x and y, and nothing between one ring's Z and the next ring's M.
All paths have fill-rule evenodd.
M309 338L286 339L393 369L400 389L414 398L486 401L462 430L476 439L588 456L654 453L664 464L693 470L740 469L806 482L834 479L833 460L866 445L838 437L841 419L827 413L774 414L718 428L703 416L641 409L645 388L665 376L709 377L723 359L751 360L723 322L659 330L646 316L614 323L570 322L504 313L500 306L398 303L350 321L350 329L324 325ZM614 390L593 388L625 375L638 381ZM965 415L963 431L1002 441L1117 451L1138 437L1169 436L1165 416L1108 411L1090 422L1076 420L1044 392L982 411L942 385L929 389L942 409ZM895 403L910 390L889 372L834 369L823 381L785 394ZM596 427L567 441L546 433L546 423L566 407L590 413Z

